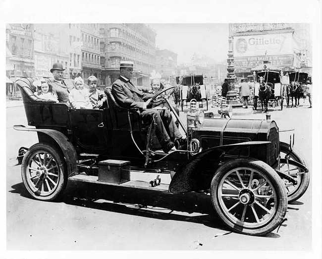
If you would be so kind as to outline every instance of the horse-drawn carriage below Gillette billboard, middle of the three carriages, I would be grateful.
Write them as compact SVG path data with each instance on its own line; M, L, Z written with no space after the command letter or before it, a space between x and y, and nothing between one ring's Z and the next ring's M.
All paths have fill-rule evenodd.
M281 80L279 71L262 70L256 73L254 87L254 109L257 109L258 102L262 105L262 110L268 111L268 102L278 106L278 102L282 106L281 98Z

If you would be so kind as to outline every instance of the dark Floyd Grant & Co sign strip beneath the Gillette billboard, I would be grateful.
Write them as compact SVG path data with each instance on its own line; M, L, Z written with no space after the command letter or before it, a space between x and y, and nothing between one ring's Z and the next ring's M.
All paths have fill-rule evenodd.
M270 65L291 66L292 57L292 55L242 57L235 58L234 62L236 68L255 67L264 64L264 61L269 61Z

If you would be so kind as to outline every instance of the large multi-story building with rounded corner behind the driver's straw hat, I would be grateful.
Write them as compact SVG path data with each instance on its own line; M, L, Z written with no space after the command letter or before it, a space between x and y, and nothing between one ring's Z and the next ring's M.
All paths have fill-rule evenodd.
M134 62L132 81L149 85L156 69L156 32L145 24L101 24L101 84L109 86L119 76L121 61Z

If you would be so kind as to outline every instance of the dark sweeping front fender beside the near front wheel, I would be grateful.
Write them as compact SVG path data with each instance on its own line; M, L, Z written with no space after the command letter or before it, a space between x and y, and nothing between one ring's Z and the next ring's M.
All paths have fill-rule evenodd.
M216 146L192 156L174 174L169 192L172 194L208 190L215 171L221 165L227 151L241 146L265 145L270 141L248 141L230 145Z

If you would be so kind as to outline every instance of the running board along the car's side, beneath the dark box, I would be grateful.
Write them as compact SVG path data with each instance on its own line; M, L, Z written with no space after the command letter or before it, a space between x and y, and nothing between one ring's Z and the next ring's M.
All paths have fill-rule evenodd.
M145 189L145 190L152 190L152 191L159 191L164 193L169 193L169 185L168 184L160 184L155 187L152 187L150 183L145 181L129 181L122 184L116 183L108 183L99 181L98 176L89 176L89 175L75 175L68 177L68 181L80 181L92 184L102 184L102 185L111 185L111 186L121 186L121 187L129 187L129 188L136 188L136 189Z

